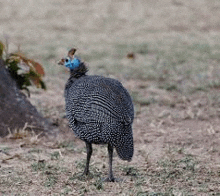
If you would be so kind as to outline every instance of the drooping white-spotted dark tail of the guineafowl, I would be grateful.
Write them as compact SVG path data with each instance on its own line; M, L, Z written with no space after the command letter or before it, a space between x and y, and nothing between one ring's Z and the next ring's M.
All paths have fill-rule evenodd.
M117 138L115 148L118 156L122 160L131 161L134 154L132 125L123 125L123 129L120 131L120 136Z

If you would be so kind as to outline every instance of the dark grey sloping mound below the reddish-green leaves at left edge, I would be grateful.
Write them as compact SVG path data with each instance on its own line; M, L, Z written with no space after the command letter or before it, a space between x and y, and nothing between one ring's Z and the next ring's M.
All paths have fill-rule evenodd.
M0 59L0 137L14 130L23 129L24 126L36 133L53 129L18 89Z

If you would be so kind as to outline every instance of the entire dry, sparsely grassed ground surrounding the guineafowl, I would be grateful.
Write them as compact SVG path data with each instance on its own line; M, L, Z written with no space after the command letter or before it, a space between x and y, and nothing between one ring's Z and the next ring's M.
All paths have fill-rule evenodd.
M18 130L0 140L0 195L220 195L220 2L0 1L0 38L41 62L47 91L30 101L57 126L40 137ZM134 157L85 144L68 128L56 62L76 46L89 74L117 78L135 106ZM127 58L127 54L134 54Z

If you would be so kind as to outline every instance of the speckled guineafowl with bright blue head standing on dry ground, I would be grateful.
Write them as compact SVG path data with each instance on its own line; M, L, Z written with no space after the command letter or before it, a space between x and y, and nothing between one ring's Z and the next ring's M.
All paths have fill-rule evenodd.
M131 161L134 153L132 98L121 82L99 75L87 75L88 67L75 57L76 49L58 63L70 70L65 85L65 110L69 126L83 140L87 160L83 175L89 174L92 144L107 144L109 174L107 182L117 181L112 170L113 150L122 160Z

